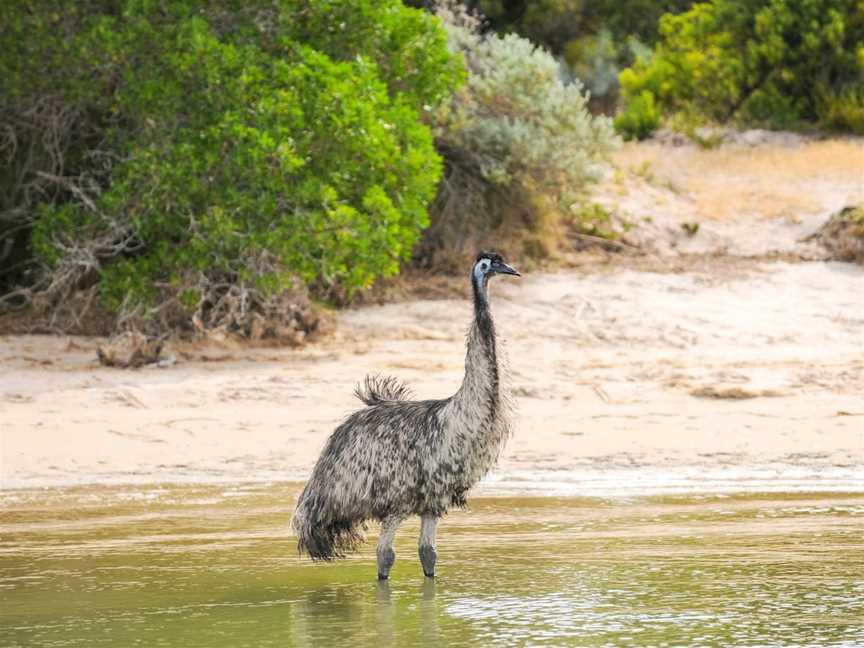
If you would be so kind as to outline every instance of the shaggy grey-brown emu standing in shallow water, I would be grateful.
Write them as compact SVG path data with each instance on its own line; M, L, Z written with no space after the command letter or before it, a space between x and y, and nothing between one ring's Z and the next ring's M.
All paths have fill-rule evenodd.
M355 395L366 407L330 436L300 494L292 527L298 549L313 560L343 557L363 541L368 520L381 522L378 578L396 561L399 524L420 516L423 573L435 576L438 520L495 464L510 436L509 401L502 386L488 282L520 276L495 253L481 252L471 272L474 320L468 332L465 377L453 396L408 400L394 378L367 376Z

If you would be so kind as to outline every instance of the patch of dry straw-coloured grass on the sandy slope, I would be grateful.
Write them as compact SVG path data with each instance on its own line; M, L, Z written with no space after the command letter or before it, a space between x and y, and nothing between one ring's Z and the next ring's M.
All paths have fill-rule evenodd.
M694 220L796 218L836 202L838 189L846 204L864 202L862 139L714 150L627 144L615 154L615 164L686 199Z

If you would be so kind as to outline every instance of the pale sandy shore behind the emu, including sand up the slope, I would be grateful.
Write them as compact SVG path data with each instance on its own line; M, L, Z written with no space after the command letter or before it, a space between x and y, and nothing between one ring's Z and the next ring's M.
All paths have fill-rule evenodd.
M754 241L761 255L772 245L786 254L836 205L862 197L864 183L846 163L864 145L842 144L840 158L837 146L810 151L821 160L820 184L798 194L807 168L800 151L763 152L767 161L722 151L712 166L700 157L710 153L643 147L659 179L645 186L639 158L635 179L622 188L619 177L605 199L653 210L651 225L634 231L659 242L660 256L725 256L676 262L678 272L617 266L496 280L493 310L518 416L485 487L864 490L864 269L733 254L735 241L744 256ZM713 168L716 182L685 174L670 187L676 156ZM784 196L780 212L756 209L775 204L766 194L724 230L729 214L712 220L697 209L717 198L706 186L734 186L742 161L776 175L783 159L794 164L770 187ZM791 218L802 192L806 205ZM701 228L682 234L694 214ZM304 479L328 434L358 407L352 390L366 373L396 375L420 398L453 393L467 297L466 280L463 299L345 311L335 335L301 350L169 349L178 362L163 369L100 367L94 339L0 338L0 487Z

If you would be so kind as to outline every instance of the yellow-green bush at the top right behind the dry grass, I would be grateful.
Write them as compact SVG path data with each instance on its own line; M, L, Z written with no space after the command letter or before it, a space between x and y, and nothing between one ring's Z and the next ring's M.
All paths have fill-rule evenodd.
M648 95L683 124L821 121L864 132L859 0L714 0L664 16L660 32L653 56L621 73L627 136L645 135Z

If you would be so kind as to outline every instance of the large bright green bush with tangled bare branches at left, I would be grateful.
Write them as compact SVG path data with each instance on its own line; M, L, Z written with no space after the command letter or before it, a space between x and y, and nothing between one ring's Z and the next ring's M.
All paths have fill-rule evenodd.
M15 279L55 303L98 282L121 319L236 323L298 279L394 274L428 223L441 160L421 114L463 74L434 16L44 0L0 22L0 239L15 230L19 268L42 268Z

